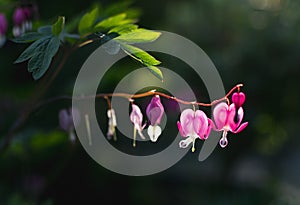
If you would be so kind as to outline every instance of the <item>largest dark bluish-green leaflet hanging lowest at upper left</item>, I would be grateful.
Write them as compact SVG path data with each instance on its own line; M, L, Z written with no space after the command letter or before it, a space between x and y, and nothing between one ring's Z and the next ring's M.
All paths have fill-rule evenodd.
M37 54L36 60L34 62L35 64L32 65L33 67L35 67L35 69L33 69L32 71L32 77L35 80L38 80L46 73L51 64L53 56L59 49L59 46L60 39L58 37L52 37L49 40L47 46L44 47L45 50L41 51L41 54ZM32 59L30 59L30 61Z

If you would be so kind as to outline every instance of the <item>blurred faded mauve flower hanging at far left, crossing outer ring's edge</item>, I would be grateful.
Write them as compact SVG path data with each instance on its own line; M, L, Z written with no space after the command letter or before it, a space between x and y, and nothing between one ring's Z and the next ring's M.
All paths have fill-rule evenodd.
M75 142L75 132L74 128L79 124L80 122L80 114L77 109L62 109L59 111L58 114L59 119L59 125L62 130L69 133L69 138L72 143Z

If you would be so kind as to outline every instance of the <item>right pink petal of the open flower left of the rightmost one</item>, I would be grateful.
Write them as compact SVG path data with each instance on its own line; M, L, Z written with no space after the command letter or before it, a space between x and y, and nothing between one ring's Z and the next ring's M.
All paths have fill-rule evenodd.
M196 111L193 126L194 131L197 133L200 139L203 139L207 132L208 121L206 114L202 110Z

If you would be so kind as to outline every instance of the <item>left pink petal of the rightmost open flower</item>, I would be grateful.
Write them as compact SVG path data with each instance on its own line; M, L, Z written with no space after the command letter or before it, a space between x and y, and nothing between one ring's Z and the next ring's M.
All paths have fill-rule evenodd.
M218 130L221 130L225 125L227 121L227 110L228 110L228 105L224 102L221 102L216 105L213 111L213 116L214 120L216 123L216 128Z

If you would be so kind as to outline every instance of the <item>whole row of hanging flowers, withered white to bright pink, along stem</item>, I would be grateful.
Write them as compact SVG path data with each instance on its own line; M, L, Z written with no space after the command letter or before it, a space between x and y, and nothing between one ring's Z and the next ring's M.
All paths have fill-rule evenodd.
M221 102L227 100L227 103ZM228 144L228 132L239 133L248 125L248 122L241 123L244 117L242 105L245 102L245 94L243 92L235 92L232 94L232 103L228 100L228 95L218 103L212 103L207 106L215 105L213 109L213 119L210 119L202 110L186 109L180 115L180 120L177 122L177 127L180 134L185 138L180 141L179 147L186 148L192 145L192 152L195 151L196 139L206 140L209 137L211 130L223 132L219 144L222 148ZM164 114L164 107L160 101L159 95L154 95L146 108L148 118L147 133L152 142L156 142L162 133L159 126ZM108 132L107 136L110 139L115 134L117 125L116 115L112 108L107 111L108 116ZM137 133L141 139L145 139L143 130L146 123L143 124L143 114L140 108L132 103L132 111L130 113L130 121L133 123L133 146L136 146Z

